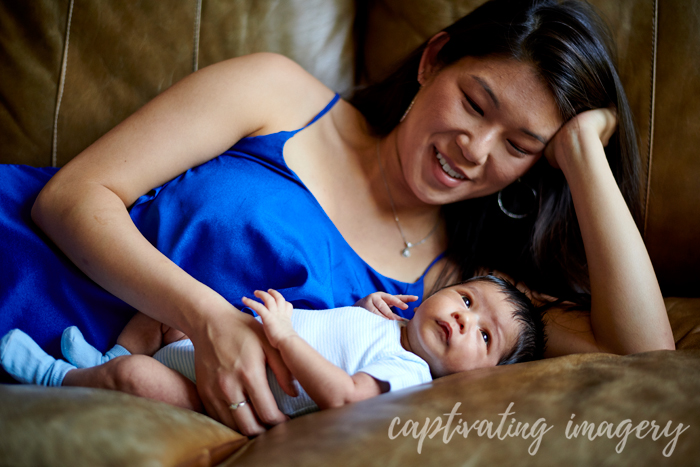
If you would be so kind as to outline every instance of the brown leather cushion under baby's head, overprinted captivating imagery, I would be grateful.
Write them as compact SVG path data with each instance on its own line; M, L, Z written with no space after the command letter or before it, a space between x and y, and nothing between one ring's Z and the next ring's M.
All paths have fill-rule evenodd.
M535 437L490 439L472 430L445 443L444 431L432 439L425 437L422 452L418 444L426 420L438 417L446 423L456 403L461 405L452 428L459 419L471 427L477 420L488 420L497 429L512 402L504 430L511 419L533 423L544 418L547 428L536 454L528 449ZM615 451L621 438L595 437L581 432L566 437L567 423L603 422L614 431L626 419L637 427L655 421L661 429L657 440L642 426L643 439L636 432L627 437L620 453ZM395 439L389 430L394 417ZM408 420L417 422L417 436L399 434ZM671 436L662 434L670 422ZM664 449L682 432L670 457ZM627 425L623 425L624 426ZM545 361L487 368L452 375L417 388L384 394L336 410L318 412L277 426L238 451L222 466L260 465L697 465L700 445L700 351L657 351L632 356L609 354L570 355ZM606 425L603 425L606 427ZM433 426L433 429L435 426ZM604 428L605 429L605 428ZM530 428L527 433L529 434ZM450 430L451 431L451 430ZM428 431L430 433L431 431ZM653 433L652 433L653 434ZM416 439L418 438L418 439ZM293 453L293 454L290 454Z

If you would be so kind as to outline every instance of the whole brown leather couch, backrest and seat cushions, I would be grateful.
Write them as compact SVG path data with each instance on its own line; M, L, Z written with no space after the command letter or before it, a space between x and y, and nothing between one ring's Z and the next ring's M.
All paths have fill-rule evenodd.
M256 51L349 96L482 1L2 2L0 163L62 166L188 73ZM593 3L639 128L642 229L676 352L462 373L252 440L124 394L4 384L0 465L698 465L700 4Z

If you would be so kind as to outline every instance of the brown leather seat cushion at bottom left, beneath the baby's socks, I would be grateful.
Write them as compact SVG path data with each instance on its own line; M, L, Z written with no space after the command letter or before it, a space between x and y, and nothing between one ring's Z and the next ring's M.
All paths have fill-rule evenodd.
M204 415L118 392L0 385L0 465L208 466L246 441Z

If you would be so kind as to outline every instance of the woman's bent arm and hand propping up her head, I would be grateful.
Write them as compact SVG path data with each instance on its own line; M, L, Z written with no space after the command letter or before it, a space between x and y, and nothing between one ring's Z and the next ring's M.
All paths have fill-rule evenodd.
M651 260L605 157L615 127L609 109L583 112L545 152L571 189L591 282L590 320L548 313L549 355L675 349Z

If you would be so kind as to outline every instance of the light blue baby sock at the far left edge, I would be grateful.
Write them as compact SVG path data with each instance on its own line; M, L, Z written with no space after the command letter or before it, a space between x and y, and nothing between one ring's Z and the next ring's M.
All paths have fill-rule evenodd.
M73 365L44 352L19 329L13 329L0 340L0 364L17 381L43 386L60 386L66 373L75 370Z

